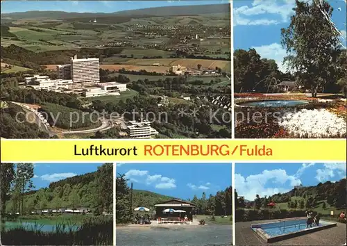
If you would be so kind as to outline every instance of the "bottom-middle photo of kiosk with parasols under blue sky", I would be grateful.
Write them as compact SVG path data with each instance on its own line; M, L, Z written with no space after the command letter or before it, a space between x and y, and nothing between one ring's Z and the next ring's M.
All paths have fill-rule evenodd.
M231 163L115 166L117 245L232 245Z

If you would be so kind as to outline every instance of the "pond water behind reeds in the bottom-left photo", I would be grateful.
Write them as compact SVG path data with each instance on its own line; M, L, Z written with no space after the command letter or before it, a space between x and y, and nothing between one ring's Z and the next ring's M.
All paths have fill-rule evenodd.
M54 232L54 231L78 231L80 228L74 223L62 223L52 220L17 220L17 221L6 221L5 230L22 228L26 231L42 231L42 232Z

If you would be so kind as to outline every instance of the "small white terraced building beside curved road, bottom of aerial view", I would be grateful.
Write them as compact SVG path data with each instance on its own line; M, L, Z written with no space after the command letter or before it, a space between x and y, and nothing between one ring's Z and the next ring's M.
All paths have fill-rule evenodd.
M130 138L151 138L151 136L157 135L158 131L151 127L151 122L148 120L140 122L131 120L126 124L126 133Z

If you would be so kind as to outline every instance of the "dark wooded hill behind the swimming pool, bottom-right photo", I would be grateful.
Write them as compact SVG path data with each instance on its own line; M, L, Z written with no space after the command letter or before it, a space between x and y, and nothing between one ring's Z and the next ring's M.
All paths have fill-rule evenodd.
M275 202L276 204L294 202L293 197L300 203L303 201L305 208L315 208L320 202L326 202L325 206L346 208L346 179L335 183L327 181L316 186L301 186L286 193L278 193L270 197L260 197L260 204ZM257 201L257 199L255 199ZM250 202L248 205L254 204ZM239 204L242 207L242 204ZM291 208L296 208L295 203Z

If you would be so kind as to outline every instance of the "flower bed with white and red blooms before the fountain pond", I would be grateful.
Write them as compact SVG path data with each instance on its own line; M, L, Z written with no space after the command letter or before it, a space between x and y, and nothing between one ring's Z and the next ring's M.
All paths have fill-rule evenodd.
M346 103L341 100L312 99L296 108L235 107L235 138L345 137Z

